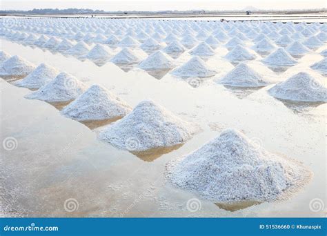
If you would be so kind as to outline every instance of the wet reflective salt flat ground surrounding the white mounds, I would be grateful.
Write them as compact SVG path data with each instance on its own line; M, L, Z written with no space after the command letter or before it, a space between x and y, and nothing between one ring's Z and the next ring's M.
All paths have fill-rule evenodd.
M80 26L83 24L80 23ZM7 137L14 137L17 140L14 150L1 150L3 215L30 217L315 217L324 215L324 211L315 213L310 210L310 201L326 199L326 144L323 131L326 104L279 100L269 95L267 91L273 88L275 83L286 81L298 72L306 72L324 83L326 81L324 71L314 70L310 66L324 59L320 52L327 48L326 38L325 42L319 39L321 43L318 46L309 48L308 52L300 56L291 55L291 59L296 62L294 66L276 68L261 61L275 50L270 50L266 54L252 50L260 39L260 33L268 37L273 31L272 28L257 32L259 38L255 39L255 37L250 38L251 34L246 35L246 26L238 26L240 32L235 30L235 25L221 30L227 39L224 42L220 40L215 47L210 45L212 48L209 51L214 52L212 55L190 55L188 51L192 51L193 48L185 48L184 52L170 59L173 68L169 66L159 70L157 68L143 70L137 63L128 65L111 63L109 60L120 52L122 46L113 48L102 43L101 45L108 47L110 57L106 60L90 61L83 55L59 53L54 46L39 48L33 43L9 39L10 35L17 32L19 35L25 32L23 38L26 39L33 31L32 28L10 28L14 32L6 31L7 35L3 35L1 39L1 50L8 54L19 55L36 66L40 63L48 63L61 72L74 75L87 87L97 83L119 96L132 108L144 99L152 99L181 119L199 125L200 131L192 139L177 146L154 148L143 152L120 150L97 139L99 132L108 127L108 122L82 124L63 117L57 109L61 109L61 106L58 106L60 104L56 104L57 108L55 108L44 101L25 99L24 96L30 93L30 90L18 88L11 82L8 83L10 80L8 77L3 77L4 79L1 79L1 140ZM208 32L201 32L202 35L198 35L200 29L192 33L197 39L195 47L206 41L210 35L218 35L219 30L210 27L206 26ZM304 24L301 28L298 27L296 26L298 30L295 30L293 24L287 27L278 25L278 30L275 31L280 32L281 35L273 39L271 34L270 43L275 46L275 49L287 50L287 46L292 41L285 46L276 43L284 34L291 38L297 31L308 29L313 30L317 35L326 32L326 26L310 27ZM285 28L288 30L284 30ZM290 32L292 29L294 32ZM128 32L128 28L121 31ZM170 31L173 35L166 32L168 37L166 41L164 38L159 40L162 47L166 46L170 39L181 41L182 35L178 35L176 30ZM131 31L129 32L133 35ZM155 32L148 33L155 34ZM40 35L47 35L49 38L56 35L53 32L42 34L35 32L35 34L37 38ZM56 37L60 40L69 38L67 36L70 35L69 32L61 35L57 32L57 34ZM99 34L106 39L112 35L104 32ZM95 38L101 39L99 34L95 33L91 39L85 39L88 47L95 46L94 43L97 41ZM225 57L238 44L232 46L230 50L226 47L226 43L230 39L235 39L235 35L238 35L237 38L241 40L242 47L251 55L255 55L254 59L244 60L242 57L240 61L240 54L236 54L235 60ZM146 39L142 39L141 36L139 35L139 39L133 36L137 46L128 46L128 48L143 61L158 49L150 52L142 50L140 45ZM311 46L310 43L305 43L311 36L310 33L303 35L304 38L300 42ZM324 35L322 36L324 39ZM124 35L117 35L117 37L121 41ZM216 38L221 39L221 34ZM74 44L81 41L81 39L74 40L72 40ZM212 41L214 40L211 39L208 43ZM87 52L84 53L86 54ZM242 52L241 55L246 53ZM188 75L186 78L172 75L172 70L183 66L194 57L199 57L204 62L205 69L215 71L214 75L204 78L199 78L198 75L196 77ZM164 60L158 57L158 63L162 61ZM216 83L239 62L246 63L272 84L269 83L266 87L259 84L259 87L245 86L244 88L244 86L234 87ZM166 63L162 64L166 65ZM190 69L192 67L187 71ZM226 128L240 130L270 153L303 162L304 166L312 171L312 179L308 177L303 188L283 201L263 203L244 201L221 204L203 199L197 193L172 186L165 178L166 164L201 148ZM78 204L77 210L69 212L64 207L69 199L73 199L73 202ZM191 201L193 205L190 205ZM190 206L195 206L196 209L192 210Z

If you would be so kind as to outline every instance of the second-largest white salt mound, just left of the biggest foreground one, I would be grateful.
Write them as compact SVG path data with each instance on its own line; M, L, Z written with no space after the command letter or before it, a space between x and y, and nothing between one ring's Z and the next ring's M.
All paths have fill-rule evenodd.
M196 132L194 125L153 101L141 101L130 114L103 130L99 138L118 148L143 151L182 144Z

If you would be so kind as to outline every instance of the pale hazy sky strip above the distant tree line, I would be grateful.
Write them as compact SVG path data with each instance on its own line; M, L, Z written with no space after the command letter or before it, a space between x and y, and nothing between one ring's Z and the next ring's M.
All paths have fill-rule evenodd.
M32 10L33 8L90 8L93 10L241 10L247 6L259 9L326 8L326 0L222 0L222 1L17 1L0 0L1 10Z

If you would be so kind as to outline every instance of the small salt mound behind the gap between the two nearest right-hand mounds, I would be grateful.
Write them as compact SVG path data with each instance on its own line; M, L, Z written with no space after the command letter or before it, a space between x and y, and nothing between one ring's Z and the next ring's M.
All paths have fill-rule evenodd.
M297 63L284 48L277 48L262 61L270 66L294 66Z

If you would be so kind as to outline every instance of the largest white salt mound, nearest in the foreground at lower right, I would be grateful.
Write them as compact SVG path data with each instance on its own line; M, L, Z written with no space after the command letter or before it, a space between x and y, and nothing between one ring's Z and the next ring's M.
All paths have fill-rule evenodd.
M269 153L237 130L224 130L167 168L174 186L217 203L286 198L310 177L301 163Z

